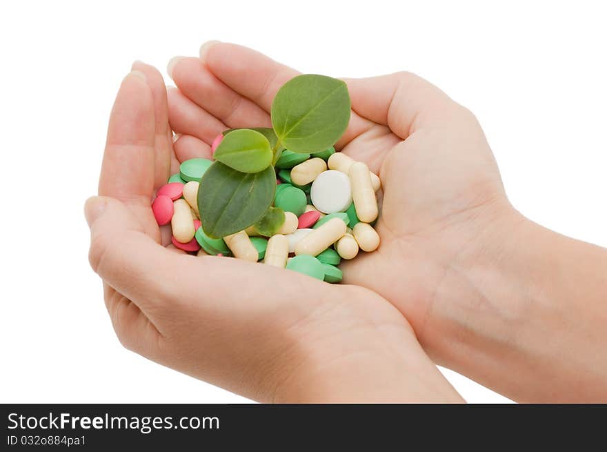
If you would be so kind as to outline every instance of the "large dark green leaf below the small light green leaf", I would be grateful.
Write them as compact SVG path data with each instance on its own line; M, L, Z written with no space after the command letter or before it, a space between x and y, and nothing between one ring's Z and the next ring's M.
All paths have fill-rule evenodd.
M259 173L241 173L215 161L204 173L198 188L202 228L213 239L246 229L266 213L276 190L274 168Z

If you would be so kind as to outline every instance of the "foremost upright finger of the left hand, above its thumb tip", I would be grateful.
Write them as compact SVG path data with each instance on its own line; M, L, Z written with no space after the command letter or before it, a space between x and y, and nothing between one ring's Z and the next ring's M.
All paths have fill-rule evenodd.
M124 202L146 233L159 239L150 209L155 178L155 112L146 75L133 70L118 91L103 153L99 195Z

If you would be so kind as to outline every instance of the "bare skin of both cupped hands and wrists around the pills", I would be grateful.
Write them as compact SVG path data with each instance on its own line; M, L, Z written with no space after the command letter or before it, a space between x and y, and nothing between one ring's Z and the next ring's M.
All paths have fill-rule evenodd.
M435 362L514 400L607 401L606 250L522 217L506 198L478 121L435 86L408 72L346 79L352 115L336 147L381 178L381 246L343 264L347 285L328 286L157 245L166 233L150 218L151 181L161 181L156 170L168 164L139 167L153 155L173 165L175 159L162 150L170 146L163 138L163 86L154 70L137 68L148 89L130 76L119 92L112 118L123 124L116 126L123 136L112 138L110 121L99 192L112 198L102 198L101 226L92 223L91 262L106 281L108 309L126 346L258 400L459 400L419 340ZM217 41L203 46L200 58L173 59L168 72L178 88L168 90L177 160L208 157L212 139L225 128L270 126L275 93L297 75ZM152 121L150 110L161 120ZM132 116L129 130L124 115ZM126 147L112 152L112 141ZM134 142L137 148L128 146ZM143 145L147 151L138 151ZM90 201L88 211L99 203ZM110 212L120 218L108 219ZM202 282L186 276L194 266L205 267L193 270L198 278L208 275ZM230 286L235 274L249 275L248 293ZM179 284L168 275L179 275ZM297 302L272 300L268 286ZM243 304L243 297L251 299ZM179 324L181 315L186 325ZM291 321L305 331L290 328ZM183 336L169 341L177 350L158 339L173 335ZM272 354L277 343L290 344L289 353ZM243 371L243 363L251 370ZM263 373L268 363L280 370ZM272 389L260 389L266 384Z

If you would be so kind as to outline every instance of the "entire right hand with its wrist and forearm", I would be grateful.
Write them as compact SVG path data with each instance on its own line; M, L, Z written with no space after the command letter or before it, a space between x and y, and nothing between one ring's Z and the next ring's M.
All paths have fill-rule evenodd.
M170 124L191 156L225 128L269 126L297 75L217 42L169 72ZM381 246L342 264L344 282L390 300L435 362L508 397L606 400L607 251L520 215L477 120L435 86L406 72L346 82L336 147L379 173L384 202Z

